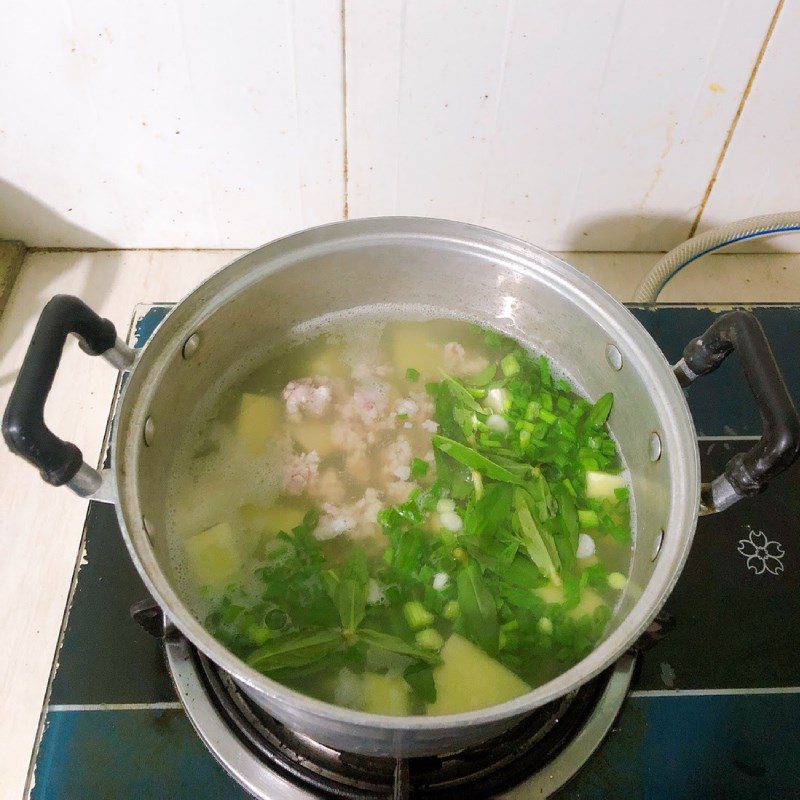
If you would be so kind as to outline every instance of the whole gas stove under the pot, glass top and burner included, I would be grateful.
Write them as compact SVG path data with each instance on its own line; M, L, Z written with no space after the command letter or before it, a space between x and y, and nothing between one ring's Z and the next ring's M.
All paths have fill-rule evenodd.
M141 346L169 308L137 307L131 340ZM721 313L632 310L673 361ZM792 358L800 308L754 311L800 396ZM688 392L704 477L757 438L758 413L738 370L731 361ZM666 606L674 628L655 647L627 654L502 737L409 760L354 756L298 735L254 707L178 632L147 634L129 613L146 592L114 510L91 503L29 794L800 797L798 478L796 465L766 494L701 518Z

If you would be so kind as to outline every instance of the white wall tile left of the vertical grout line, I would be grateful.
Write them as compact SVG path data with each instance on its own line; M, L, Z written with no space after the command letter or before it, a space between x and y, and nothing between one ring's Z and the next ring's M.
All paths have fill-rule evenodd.
M344 204L339 0L3 7L0 237L249 247Z

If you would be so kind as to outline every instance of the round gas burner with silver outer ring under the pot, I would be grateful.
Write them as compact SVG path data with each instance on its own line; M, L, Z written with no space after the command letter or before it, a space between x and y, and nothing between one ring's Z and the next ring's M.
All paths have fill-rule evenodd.
M600 744L635 664L633 656L624 656L577 691L479 746L392 759L343 753L289 730L183 637L168 639L166 650L178 694L200 737L233 777L264 800L546 796Z

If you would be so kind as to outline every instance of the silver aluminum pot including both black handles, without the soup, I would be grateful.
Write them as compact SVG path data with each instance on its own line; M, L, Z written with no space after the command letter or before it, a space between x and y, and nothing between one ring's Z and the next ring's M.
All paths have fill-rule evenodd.
M441 717L391 717L312 699L248 667L190 614L165 557L165 476L185 421L207 387L265 343L324 314L390 303L425 306L495 327L548 354L589 397L614 393L609 425L630 470L635 547L630 580L608 630L580 663L502 705ZM111 443L98 472L44 424L64 342L125 370ZM694 425L682 387L737 350L764 435L701 487ZM81 301L42 313L3 420L12 450L46 481L116 504L139 574L165 617L267 712L315 740L367 754L449 752L502 733L574 690L642 635L675 585L698 513L764 488L797 456L800 422L763 331L735 311L689 343L673 368L637 320L596 283L526 242L456 222L378 218L288 236L217 272L182 300L141 351Z

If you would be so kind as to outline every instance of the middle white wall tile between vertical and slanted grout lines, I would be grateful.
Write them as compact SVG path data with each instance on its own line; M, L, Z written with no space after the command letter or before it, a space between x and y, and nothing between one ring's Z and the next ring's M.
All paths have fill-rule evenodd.
M351 216L550 248L686 236L773 0L346 0Z

